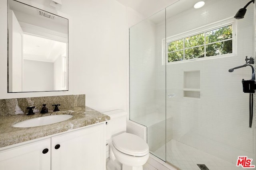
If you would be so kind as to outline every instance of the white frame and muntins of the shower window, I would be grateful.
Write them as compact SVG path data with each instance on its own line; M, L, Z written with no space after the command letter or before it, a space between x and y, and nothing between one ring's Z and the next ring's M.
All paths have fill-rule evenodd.
M219 42L223 42L223 41L228 41L231 39L224 39L224 40L220 40L220 41L216 41L213 43L207 43L206 44L206 32L208 31L212 31L214 29L219 29L228 25L232 25L232 53L228 53L228 54L222 54L222 55L214 55L214 56L209 56L206 57L206 45L209 44L214 44L214 43L219 43ZM194 47L189 47L189 48L185 48L185 43L183 44L183 49L182 50L177 50L177 51L183 51L183 60L182 61L173 61L173 62L168 62L168 43L173 42L173 41L177 41L180 39L186 39L188 37L194 36L194 35L198 35L204 33L204 45L197 45ZM213 59L213 58L220 58L220 57L229 57L229 56L236 56L236 20L234 18L227 18L224 20L220 20L220 21L216 21L207 25L203 25L201 27L198 27L196 29L192 29L190 31L186 31L177 35L173 35L170 37L166 37L166 39L163 39L162 41L162 45L163 45L163 60L162 60L162 64L174 64L174 63L182 63L182 62L186 62L186 61L196 61L196 60L205 60L205 59ZM201 58L193 58L193 59L185 59L185 50L186 49L192 49L195 47L201 47L204 46L204 57ZM172 51L175 52L175 51Z

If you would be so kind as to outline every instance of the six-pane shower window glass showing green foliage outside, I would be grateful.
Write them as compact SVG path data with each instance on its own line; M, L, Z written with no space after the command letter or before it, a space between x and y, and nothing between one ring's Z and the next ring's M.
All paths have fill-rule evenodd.
M194 35L193 32L188 32L183 33L180 38L177 38L178 36L167 38L168 63L225 54L234 55L234 24L228 23L218 27L214 25L219 24L214 23L200 28L199 31L194 30L197 32Z

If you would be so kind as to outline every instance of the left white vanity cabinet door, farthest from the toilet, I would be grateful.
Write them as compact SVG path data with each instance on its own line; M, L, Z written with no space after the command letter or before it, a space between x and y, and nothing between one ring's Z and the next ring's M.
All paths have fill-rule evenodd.
M0 150L0 170L51 170L51 139Z

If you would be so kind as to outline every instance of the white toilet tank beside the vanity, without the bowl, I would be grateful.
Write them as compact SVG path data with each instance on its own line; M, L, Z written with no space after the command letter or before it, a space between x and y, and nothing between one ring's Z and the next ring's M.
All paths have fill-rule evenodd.
M110 117L110 120L106 121L106 140L114 135L126 132L126 116L128 115L126 111L117 109L103 113Z

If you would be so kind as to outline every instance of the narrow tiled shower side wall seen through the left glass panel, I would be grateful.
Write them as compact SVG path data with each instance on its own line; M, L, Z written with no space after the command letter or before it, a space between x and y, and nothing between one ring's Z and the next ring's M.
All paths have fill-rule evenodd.
M156 30L154 23L142 22L130 28L130 56L134 56L130 57L131 120L156 111Z

